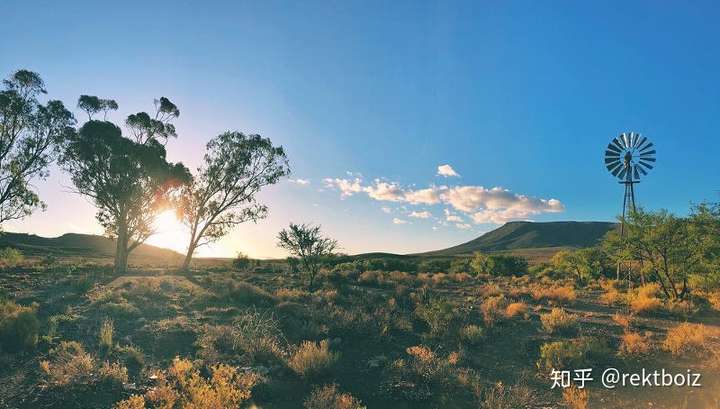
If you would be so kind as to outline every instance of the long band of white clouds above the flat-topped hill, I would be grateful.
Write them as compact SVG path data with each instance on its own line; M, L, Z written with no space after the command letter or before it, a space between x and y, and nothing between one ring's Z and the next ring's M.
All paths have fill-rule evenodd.
M365 184L359 177L353 179L327 178L326 187L338 190L342 198L358 193L365 193L373 200L400 202L412 205L445 204L452 209L464 213L475 223L502 224L511 220L527 220L529 217L542 213L558 213L565 206L557 199L540 199L513 193L501 187L485 188L483 186L436 186L415 189L403 187L398 183L375 179ZM413 212L410 217L430 217L429 212ZM420 216L422 215L422 216ZM464 219L445 209L445 220L465 228ZM460 227L460 226L463 227Z

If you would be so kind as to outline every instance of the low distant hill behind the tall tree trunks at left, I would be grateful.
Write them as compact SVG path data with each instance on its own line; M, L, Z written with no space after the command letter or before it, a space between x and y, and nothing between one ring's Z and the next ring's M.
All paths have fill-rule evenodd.
M60 237L40 237L27 233L0 233L0 247L14 247L28 256L113 257L115 240L93 234L67 233ZM175 251L141 244L131 256L143 258L172 259L181 257Z

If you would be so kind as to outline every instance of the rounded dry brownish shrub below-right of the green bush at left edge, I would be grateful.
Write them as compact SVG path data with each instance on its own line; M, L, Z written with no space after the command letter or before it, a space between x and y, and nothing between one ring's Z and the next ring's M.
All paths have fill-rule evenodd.
M54 386L90 383L95 360L85 352L82 344L63 341L50 351L50 359L40 362L45 380Z

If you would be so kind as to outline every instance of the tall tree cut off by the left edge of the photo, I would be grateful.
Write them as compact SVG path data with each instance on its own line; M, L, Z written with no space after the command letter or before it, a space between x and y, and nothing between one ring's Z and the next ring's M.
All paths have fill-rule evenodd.
M48 176L56 149L74 132L75 119L60 101L38 102L45 85L37 73L19 70L0 90L0 224L44 207L33 178Z

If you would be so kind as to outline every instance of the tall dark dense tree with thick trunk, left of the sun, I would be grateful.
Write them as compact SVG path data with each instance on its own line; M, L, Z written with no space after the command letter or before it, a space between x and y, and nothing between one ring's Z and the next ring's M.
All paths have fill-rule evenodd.
M161 101L169 101L161 98ZM177 107L156 103L156 117L177 117ZM117 240L115 271L127 271L128 255L153 232L153 221L169 202L169 196L190 180L181 163L166 159L164 140L167 133L158 126L143 126L128 117L133 139L108 121L89 120L67 143L61 165L72 177L78 193L88 196L98 208L98 222ZM171 124L161 124L172 129Z

